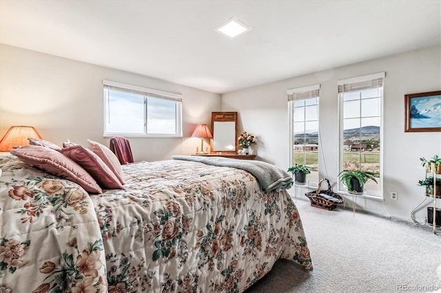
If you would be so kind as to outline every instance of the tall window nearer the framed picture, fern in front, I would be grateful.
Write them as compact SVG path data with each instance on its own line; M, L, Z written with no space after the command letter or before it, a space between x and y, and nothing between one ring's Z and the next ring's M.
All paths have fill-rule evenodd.
M371 171L380 175L378 184L369 180L365 195L382 197L381 124L384 72L340 80L340 167ZM346 188L339 182L339 190Z

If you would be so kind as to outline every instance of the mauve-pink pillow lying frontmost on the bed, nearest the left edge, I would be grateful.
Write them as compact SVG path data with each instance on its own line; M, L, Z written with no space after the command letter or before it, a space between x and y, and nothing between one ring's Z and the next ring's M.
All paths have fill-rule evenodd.
M64 177L79 184L90 193L103 193L101 187L79 164L62 153L45 146L23 146L10 151L26 164L38 167L52 175Z

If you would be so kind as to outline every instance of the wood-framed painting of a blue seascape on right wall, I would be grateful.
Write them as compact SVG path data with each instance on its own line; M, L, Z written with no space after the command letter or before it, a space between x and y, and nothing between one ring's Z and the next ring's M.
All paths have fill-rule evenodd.
M404 105L404 132L441 131L441 91L406 94Z

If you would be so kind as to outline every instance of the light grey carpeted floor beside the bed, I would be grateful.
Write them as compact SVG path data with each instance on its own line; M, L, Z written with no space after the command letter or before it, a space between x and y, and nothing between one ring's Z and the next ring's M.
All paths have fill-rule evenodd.
M441 292L441 230L297 199L314 270L280 259L251 292Z

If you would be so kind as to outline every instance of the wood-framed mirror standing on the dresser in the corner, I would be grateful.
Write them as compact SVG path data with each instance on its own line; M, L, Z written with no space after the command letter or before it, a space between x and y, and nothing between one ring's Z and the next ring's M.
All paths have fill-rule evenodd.
M237 112L212 112L211 153L237 152Z

